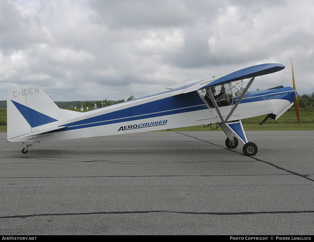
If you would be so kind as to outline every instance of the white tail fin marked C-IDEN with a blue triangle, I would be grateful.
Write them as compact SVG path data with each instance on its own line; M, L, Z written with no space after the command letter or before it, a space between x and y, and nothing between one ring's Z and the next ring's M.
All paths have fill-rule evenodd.
M79 115L59 109L39 86L12 89L7 93L7 137L10 141L51 126L57 127L57 121Z

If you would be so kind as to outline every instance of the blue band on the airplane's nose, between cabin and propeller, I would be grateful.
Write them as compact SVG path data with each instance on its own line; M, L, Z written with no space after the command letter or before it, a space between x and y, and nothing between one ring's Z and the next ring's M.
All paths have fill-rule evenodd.
M236 101L238 99L238 97L235 98L233 104L236 104ZM240 103L250 103L270 99L284 99L290 101L290 103L293 103L295 99L295 90L291 87L282 87L276 89L254 91L245 94Z

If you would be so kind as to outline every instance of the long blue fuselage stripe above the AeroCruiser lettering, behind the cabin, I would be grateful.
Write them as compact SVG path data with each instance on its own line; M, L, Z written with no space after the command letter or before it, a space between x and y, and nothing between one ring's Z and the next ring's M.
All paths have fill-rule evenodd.
M203 109L207 109L207 106L198 95L198 92L194 91L86 118L80 121L62 124L60 126L67 126L67 128L62 129L62 131L67 131Z

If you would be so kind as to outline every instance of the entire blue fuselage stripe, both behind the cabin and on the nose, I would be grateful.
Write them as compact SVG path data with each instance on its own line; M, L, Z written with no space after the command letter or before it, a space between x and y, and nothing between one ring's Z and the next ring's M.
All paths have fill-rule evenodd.
M241 103L257 102L269 99L285 99L293 102L294 96L295 90L290 87L261 90L246 94L241 100ZM235 99L234 103L237 99L238 98ZM62 129L62 131L68 131L204 109L207 109L207 106L198 95L198 92L194 91L124 108L95 117L86 118L80 121L62 124L60 126L67 126L66 128Z

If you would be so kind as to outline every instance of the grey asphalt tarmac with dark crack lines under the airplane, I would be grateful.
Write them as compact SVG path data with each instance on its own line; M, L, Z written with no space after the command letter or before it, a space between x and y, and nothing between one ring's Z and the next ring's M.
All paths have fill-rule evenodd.
M312 235L314 131L146 132L35 144L0 133L0 234Z

